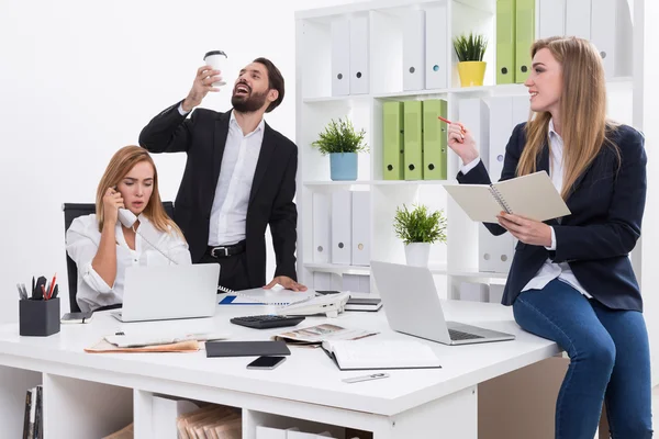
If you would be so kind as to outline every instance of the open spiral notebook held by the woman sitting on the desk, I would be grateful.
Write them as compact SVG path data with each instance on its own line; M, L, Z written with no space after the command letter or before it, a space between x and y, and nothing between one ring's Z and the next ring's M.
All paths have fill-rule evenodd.
M451 184L444 188L472 221L481 223L499 223L496 215L502 211L536 221L570 214L545 171L492 184Z

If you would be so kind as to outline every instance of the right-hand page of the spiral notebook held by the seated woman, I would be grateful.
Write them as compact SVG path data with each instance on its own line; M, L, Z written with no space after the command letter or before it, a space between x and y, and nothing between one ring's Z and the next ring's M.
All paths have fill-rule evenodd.
M500 181L493 187L514 214L536 221L570 214L570 210L545 171Z

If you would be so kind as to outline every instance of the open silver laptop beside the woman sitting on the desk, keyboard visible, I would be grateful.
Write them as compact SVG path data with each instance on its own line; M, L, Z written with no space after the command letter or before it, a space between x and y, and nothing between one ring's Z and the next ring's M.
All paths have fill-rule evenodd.
M512 334L446 322L431 270L371 261L389 326L411 336L444 345L514 340Z

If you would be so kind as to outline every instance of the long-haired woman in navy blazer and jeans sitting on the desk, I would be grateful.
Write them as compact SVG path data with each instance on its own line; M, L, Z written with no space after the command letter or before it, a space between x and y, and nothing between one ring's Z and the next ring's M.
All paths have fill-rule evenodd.
M555 340L571 362L556 406L556 438L592 439L606 402L614 439L652 436L648 335L628 255L646 200L644 136L606 119L602 59L585 40L537 41L525 86L535 116L517 125L501 180L545 170L571 214L485 223L518 239L503 295L522 328ZM449 126L458 181L488 184L469 127ZM648 293L648 292L646 292Z

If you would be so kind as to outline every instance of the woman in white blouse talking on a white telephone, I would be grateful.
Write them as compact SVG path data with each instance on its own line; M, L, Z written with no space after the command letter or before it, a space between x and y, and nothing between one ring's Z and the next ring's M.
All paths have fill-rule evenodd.
M66 250L78 267L82 312L122 304L127 267L191 263L181 230L163 207L146 149L126 146L114 154L97 189L96 214L74 219Z

